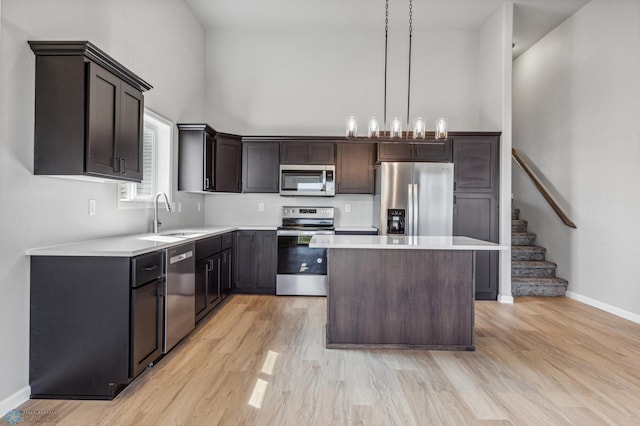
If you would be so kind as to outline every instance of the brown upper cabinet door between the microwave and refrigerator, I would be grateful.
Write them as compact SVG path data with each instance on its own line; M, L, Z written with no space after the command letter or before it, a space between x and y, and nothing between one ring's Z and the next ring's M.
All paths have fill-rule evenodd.
M339 143L337 147L337 193L373 194L375 144Z

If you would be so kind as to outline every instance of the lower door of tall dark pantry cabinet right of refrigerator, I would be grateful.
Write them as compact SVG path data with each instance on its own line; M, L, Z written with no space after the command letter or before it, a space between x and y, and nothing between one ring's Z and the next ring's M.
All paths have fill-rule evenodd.
M453 234L498 242L498 203L493 194L457 193L454 196ZM498 252L476 252L476 299L496 300Z

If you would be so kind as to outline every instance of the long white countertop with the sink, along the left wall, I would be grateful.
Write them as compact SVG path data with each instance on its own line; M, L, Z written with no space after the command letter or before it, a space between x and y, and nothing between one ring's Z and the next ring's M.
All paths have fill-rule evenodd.
M159 234L134 234L110 238L58 244L48 247L32 248L26 251L29 256L113 256L133 257L161 250L167 247L190 243L202 238L212 237L237 230L268 230L270 226L196 226L189 228L163 230ZM167 234L187 233L185 236Z

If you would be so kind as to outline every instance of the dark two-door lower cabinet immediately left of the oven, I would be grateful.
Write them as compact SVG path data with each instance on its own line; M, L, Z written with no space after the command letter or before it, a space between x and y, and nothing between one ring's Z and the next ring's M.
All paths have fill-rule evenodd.
M233 292L275 294L277 243L275 231L236 231Z

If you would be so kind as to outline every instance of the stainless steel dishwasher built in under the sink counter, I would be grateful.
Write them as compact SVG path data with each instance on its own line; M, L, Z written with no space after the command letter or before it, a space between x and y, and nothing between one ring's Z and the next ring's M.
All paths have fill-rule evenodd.
M195 244L166 249L164 353L196 326Z

